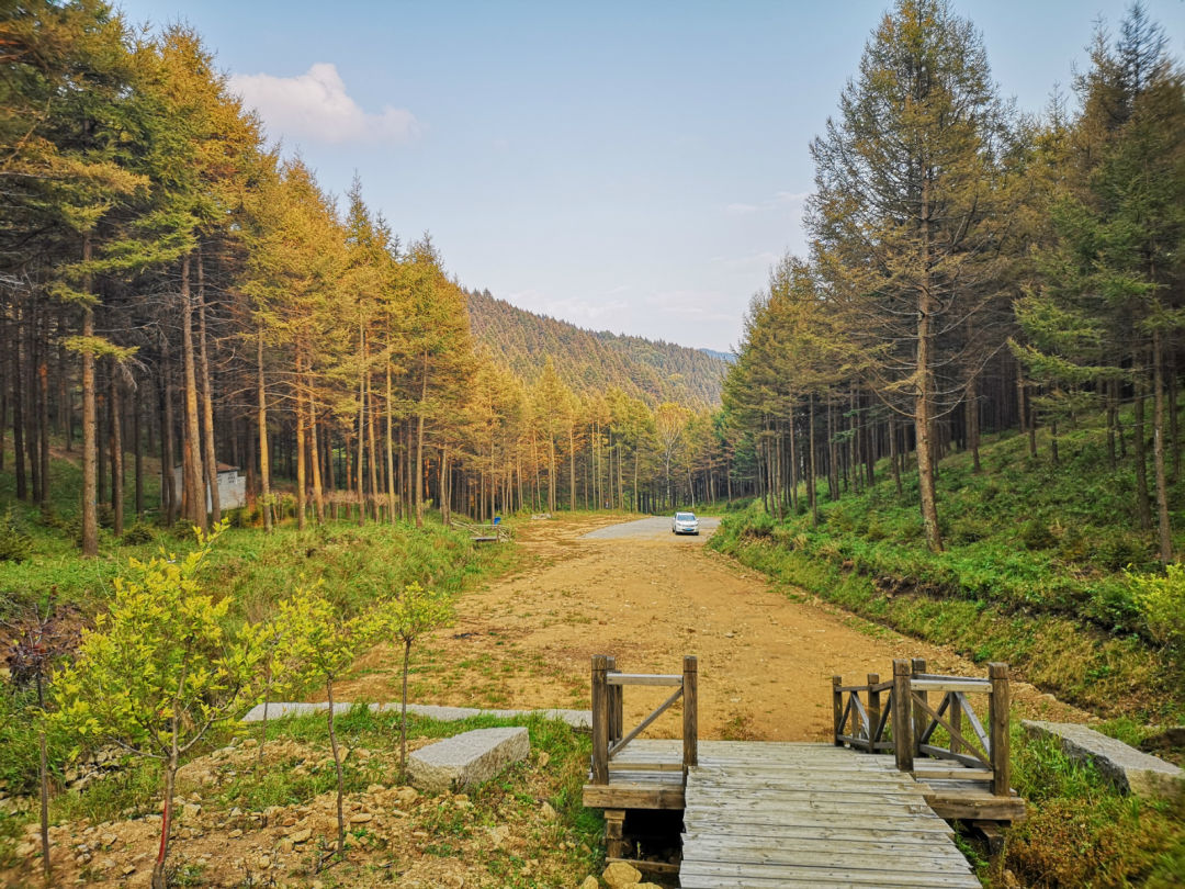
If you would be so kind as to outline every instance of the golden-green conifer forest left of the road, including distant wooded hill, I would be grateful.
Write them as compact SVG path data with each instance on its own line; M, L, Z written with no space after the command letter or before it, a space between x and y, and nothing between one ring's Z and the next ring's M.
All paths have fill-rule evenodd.
M180 467L166 525L217 520L228 463L265 526L728 488L711 357L470 296L361 183L339 205L267 145L188 27L141 40L98 2L0 27L0 461L44 512L51 447L79 456L87 555L101 514L155 511L149 456Z

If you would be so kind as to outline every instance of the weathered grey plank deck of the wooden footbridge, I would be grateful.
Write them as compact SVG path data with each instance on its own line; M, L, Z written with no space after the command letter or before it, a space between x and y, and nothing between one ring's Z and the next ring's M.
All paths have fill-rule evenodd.
M930 788L892 757L825 743L639 740L585 804L684 810L684 889L978 889ZM646 765L646 770L632 768ZM667 770L652 766L667 766ZM594 799L590 799L590 794Z

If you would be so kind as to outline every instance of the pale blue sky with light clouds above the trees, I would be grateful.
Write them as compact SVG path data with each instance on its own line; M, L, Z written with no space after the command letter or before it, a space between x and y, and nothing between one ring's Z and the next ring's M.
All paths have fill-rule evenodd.
M204 38L321 187L515 306L715 350L802 254L811 140L888 0L116 0ZM1127 0L952 0L1042 109ZM1185 0L1147 0L1185 58Z

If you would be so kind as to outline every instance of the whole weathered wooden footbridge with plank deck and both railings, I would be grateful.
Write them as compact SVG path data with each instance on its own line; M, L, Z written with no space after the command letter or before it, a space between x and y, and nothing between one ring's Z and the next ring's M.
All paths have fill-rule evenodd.
M672 693L623 730L630 685ZM973 706L987 699L987 728ZM698 671L623 673L592 659L592 762L584 805L603 808L609 861L678 874L685 889L723 887L935 887L975 889L948 821L989 840L1024 818L1008 787L1008 670L986 678L937 676L895 660L891 680L832 680L831 743L700 741ZM679 740L639 738L683 702ZM681 850L654 814L681 813ZM658 832L658 836L656 836ZM666 859L662 859L662 858ZM673 858L673 861L672 861Z

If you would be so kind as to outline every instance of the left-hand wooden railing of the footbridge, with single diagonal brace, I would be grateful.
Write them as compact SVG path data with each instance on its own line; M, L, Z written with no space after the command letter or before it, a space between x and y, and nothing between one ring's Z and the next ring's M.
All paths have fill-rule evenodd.
M592 658L592 774L591 782L609 784L610 772L665 772L672 763L614 762L630 741L651 723L683 699L683 762L678 766L684 776L699 765L699 667L694 657L683 659L683 673L623 673L616 659L606 654ZM624 731L623 699L627 685L672 686L674 691L638 725Z

